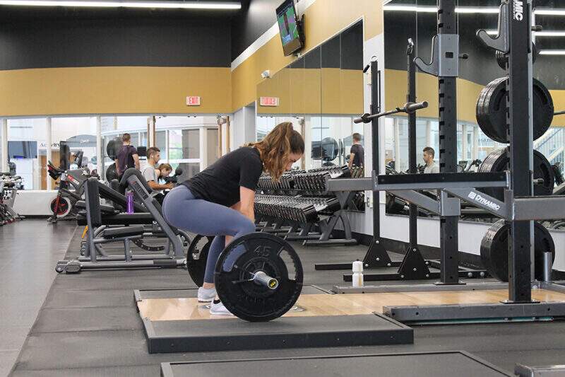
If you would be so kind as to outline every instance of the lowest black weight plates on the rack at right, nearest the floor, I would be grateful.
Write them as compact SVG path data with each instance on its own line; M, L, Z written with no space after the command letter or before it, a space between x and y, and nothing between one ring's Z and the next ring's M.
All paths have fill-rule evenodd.
M481 261L492 277L508 282L508 236L509 225L504 220L496 221L487 230L481 242ZM535 279L543 279L543 254L552 253L555 260L555 244L549 231L534 222Z

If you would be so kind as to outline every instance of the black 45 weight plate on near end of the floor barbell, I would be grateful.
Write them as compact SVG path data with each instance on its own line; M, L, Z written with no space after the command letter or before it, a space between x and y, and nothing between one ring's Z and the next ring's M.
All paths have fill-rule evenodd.
M302 263L292 246L270 233L249 233L222 251L215 269L218 296L242 320L279 318L302 291Z

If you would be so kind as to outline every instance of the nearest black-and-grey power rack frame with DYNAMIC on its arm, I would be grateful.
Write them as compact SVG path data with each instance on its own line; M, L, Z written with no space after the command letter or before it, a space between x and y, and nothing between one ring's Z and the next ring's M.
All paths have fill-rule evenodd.
M438 22L441 22L442 16L450 16L452 13L453 16L455 15L454 1L439 0L438 8ZM565 317L565 303L540 303L532 300L532 220L561 218L565 213L565 196L532 196L533 147L531 135L533 124L532 106L529 100L532 93L531 12L531 2L525 2L523 17L514 18L511 4L503 2L499 14L499 36L492 39L484 30L477 32L477 37L485 45L504 52L509 57L507 63L509 98L506 106L509 111L507 122L511 141L509 147L511 171L427 175L378 175L374 171L371 178L329 182L331 190L393 191L395 195L408 202L434 211L441 216L458 216L460 200L464 200L509 222L511 242L508 300L499 304L383 308L385 315L400 320L400 322L551 320ZM441 56L446 55L442 53ZM454 94L453 100L455 99ZM376 118L382 115L383 113L371 115L371 117ZM477 192L477 187L504 187L504 201ZM415 190L438 190L438 200L429 199ZM446 250L457 249L448 248ZM547 266L550 265L547 264ZM442 267L444 267L443 264ZM546 272L547 277L549 274L550 272ZM542 282L540 285L553 289L557 284Z

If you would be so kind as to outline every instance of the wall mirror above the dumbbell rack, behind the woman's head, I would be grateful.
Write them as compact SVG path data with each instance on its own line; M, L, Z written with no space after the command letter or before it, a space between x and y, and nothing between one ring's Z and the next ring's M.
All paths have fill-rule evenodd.
M363 112L363 24L355 23L257 86L257 139L292 122L306 141L298 168L347 164Z

